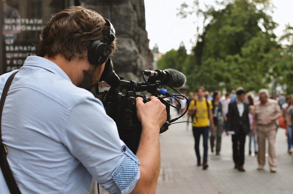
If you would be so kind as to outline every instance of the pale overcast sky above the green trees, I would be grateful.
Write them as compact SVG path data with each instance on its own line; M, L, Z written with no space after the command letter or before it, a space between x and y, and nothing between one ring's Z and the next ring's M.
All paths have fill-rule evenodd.
M145 0L146 12L146 30L148 32L149 47L152 49L155 43L159 46L159 52L165 53L172 48L178 49L181 41L184 42L186 50L191 49L193 38L196 32L197 18L192 15L185 19L179 19L176 16L176 8L186 2L192 5L194 0ZM215 5L214 0L200 0L206 4ZM293 25L293 0L272 0L276 6L272 15L273 21L279 23L278 28L274 31L277 36L282 35L285 24Z

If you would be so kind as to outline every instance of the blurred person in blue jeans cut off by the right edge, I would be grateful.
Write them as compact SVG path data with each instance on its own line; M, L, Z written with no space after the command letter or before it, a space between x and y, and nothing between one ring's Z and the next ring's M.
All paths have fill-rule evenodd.
M288 108L286 113L286 135L288 137L288 154L292 154L292 120L293 120L293 97L288 99Z

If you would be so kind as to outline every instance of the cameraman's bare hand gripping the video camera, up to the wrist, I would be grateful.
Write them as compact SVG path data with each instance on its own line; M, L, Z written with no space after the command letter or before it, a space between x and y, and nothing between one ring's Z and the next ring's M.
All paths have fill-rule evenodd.
M142 98L136 98L137 118L142 126L152 125L161 128L167 120L166 106L155 96L148 99L149 102L143 103Z

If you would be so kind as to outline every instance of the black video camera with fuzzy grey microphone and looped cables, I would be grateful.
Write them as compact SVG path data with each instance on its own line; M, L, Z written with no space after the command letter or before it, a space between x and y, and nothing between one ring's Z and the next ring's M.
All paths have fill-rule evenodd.
M149 76L147 81L145 76ZM168 130L168 126L171 125L172 122L182 117L187 112L189 106L187 98L173 88L179 88L185 84L186 78L184 74L174 69L167 69L165 71L144 70L142 72L142 77L144 80L140 82L125 81L124 77L117 76L117 74L115 74L113 71L112 61L111 59L108 59L101 78L96 85L96 93L103 94L102 102L105 107L106 114L116 122L120 139L134 154L137 152L142 132L141 122L139 122L137 118L135 98L142 97L144 99L144 103L149 101L146 96L139 95L137 92L147 91L153 96L159 98L159 100L166 105L167 121L161 127L160 133ZM101 81L104 81L106 84L110 85L110 89L101 92L101 84L99 85ZM170 87L178 94L174 94L171 91L164 89L164 85ZM160 95L164 95L164 97L160 97ZM174 98L179 103L179 107L172 105L167 99L168 97ZM105 100L103 100L104 98ZM181 104L178 99L187 100L187 109L178 118L170 120L170 106L174 108L181 108Z

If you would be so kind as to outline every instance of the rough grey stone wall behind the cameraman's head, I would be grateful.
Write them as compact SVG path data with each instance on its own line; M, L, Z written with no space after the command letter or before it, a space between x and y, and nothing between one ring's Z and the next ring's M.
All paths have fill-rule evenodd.
M116 74L140 81L142 70L148 69L144 0L81 0L81 5L113 24L118 48L112 57Z

